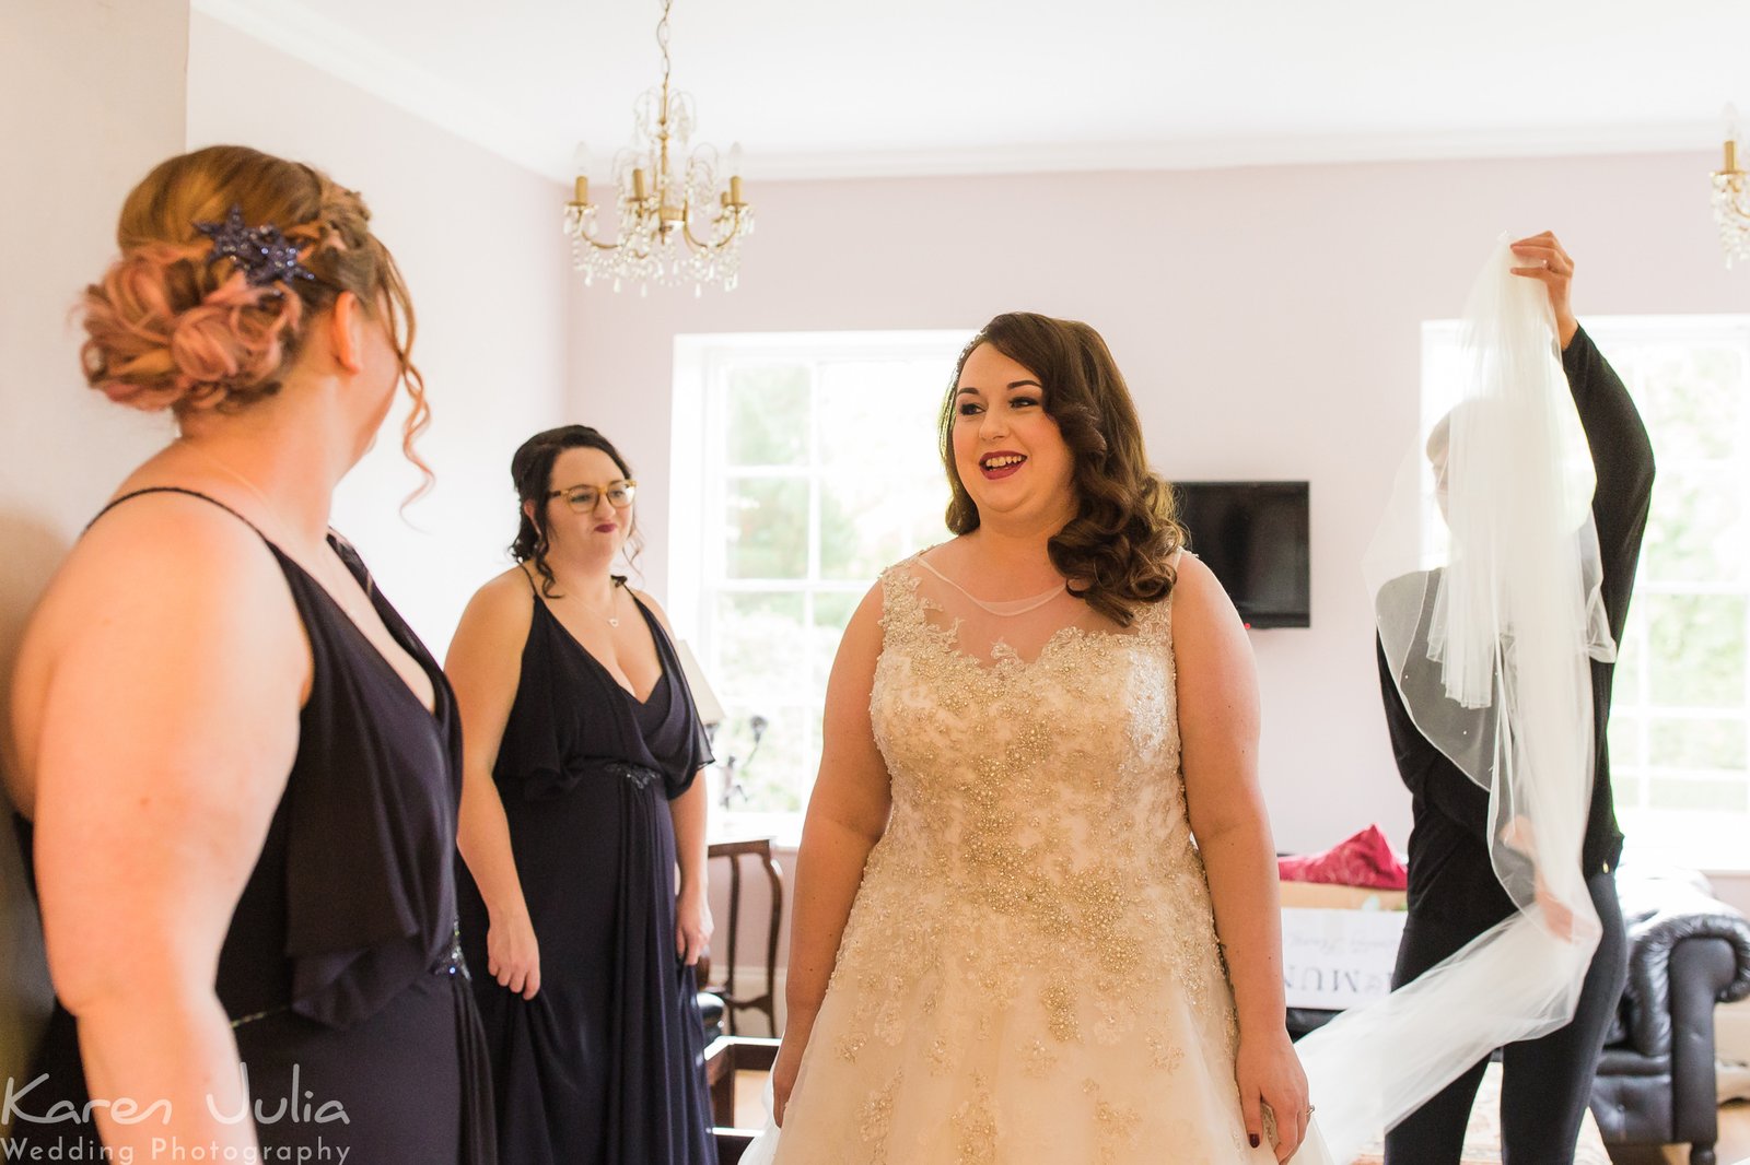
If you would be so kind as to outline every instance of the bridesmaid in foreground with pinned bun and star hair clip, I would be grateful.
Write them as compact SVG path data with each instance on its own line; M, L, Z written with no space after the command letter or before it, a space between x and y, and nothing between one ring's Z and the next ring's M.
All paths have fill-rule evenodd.
M494 1162L448 861L458 721L329 532L399 383L410 437L425 416L406 287L355 192L242 147L163 163L119 243L86 373L180 436L74 548L19 658L12 792L60 1008L14 1141Z

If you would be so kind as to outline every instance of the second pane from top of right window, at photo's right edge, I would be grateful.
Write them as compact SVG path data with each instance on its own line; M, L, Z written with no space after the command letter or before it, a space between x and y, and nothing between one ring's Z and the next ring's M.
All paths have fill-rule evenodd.
M1650 582L1736 582L1745 579L1743 467L1661 465L1642 555Z

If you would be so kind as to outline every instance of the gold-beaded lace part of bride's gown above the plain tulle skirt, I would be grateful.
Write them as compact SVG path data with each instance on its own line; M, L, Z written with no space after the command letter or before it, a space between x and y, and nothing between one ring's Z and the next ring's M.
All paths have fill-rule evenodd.
M1031 659L1001 642L985 659L920 581L914 562L882 577L870 710L892 813L838 959L868 988L844 1039L900 1037L875 999L922 992L928 1011L975 987L1012 1009L1041 1072L1060 1044L1153 1044L1132 1030L1138 994L1166 971L1197 999L1218 966L1180 777L1171 602L1122 631L1062 626ZM968 1037L992 1022L957 1011ZM952 1036L938 1043L952 1058Z

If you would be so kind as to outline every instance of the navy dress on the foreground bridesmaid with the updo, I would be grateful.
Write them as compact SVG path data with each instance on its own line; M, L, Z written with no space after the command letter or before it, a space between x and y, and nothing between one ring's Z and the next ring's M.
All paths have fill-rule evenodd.
M103 513L140 493L186 493L229 511L191 490L156 488ZM248 1072L264 1160L332 1162L345 1151L369 1165L492 1165L490 1069L452 876L462 789L455 696L346 542L329 535L390 635L425 668L436 712L303 567L262 542L315 665L298 756L219 955L217 994ZM23 836L28 857L28 826ZM70 1100L84 1111L77 1027L60 1006L32 1079L40 1083L21 1109L42 1116ZM21 1160L107 1160L93 1155L93 1125L18 1121L12 1139L28 1146ZM49 1155L56 1146L60 1158ZM65 1156L80 1146L86 1156Z

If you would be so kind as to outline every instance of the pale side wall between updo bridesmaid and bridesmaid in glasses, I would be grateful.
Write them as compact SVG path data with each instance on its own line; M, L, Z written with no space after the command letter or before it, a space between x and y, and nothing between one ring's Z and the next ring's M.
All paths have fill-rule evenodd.
M240 100L245 75L250 94L276 98ZM187 136L322 166L364 194L406 275L434 418L418 448L438 486L399 514L418 476L401 457L397 409L341 483L334 525L443 658L467 596L509 565L511 453L565 411L564 187L201 12Z

